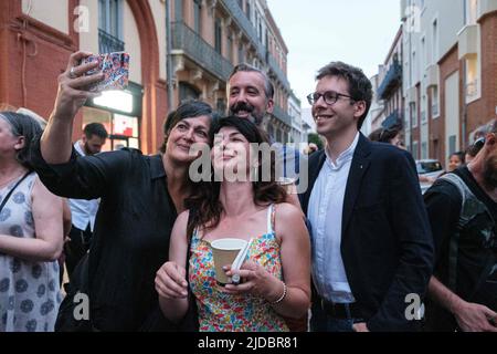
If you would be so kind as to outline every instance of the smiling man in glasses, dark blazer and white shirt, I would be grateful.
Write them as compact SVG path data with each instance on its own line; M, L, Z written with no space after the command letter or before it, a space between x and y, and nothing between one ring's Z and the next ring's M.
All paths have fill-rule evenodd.
M327 140L299 196L311 229L311 330L416 330L434 251L414 160L359 132L372 100L360 69L328 64L307 98Z

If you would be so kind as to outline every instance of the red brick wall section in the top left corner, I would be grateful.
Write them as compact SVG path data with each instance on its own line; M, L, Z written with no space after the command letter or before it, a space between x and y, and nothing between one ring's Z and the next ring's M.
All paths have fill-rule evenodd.
M77 1L70 1L70 9ZM78 35L70 34L22 14L19 1L2 1L0 32L0 102L24 106L47 118L55 101L57 76L67 65L68 55L78 46ZM72 23L72 10L67 12Z

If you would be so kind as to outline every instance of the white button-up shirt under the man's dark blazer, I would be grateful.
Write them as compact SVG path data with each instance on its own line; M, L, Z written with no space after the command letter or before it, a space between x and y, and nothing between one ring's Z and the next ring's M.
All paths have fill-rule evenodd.
M337 163L326 154L326 162L310 194L308 219L311 225L313 279L318 293L335 303L353 299L341 259L341 219L343 198L359 133L340 154Z

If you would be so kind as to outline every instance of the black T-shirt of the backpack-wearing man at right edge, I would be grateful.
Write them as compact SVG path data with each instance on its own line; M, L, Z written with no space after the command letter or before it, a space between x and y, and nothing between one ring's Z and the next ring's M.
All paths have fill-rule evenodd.
M479 187L467 167L454 171L459 176L475 195L483 201L488 211L497 216L497 202ZM451 237L456 232L461 214L463 197L453 184L438 179L424 195L426 209L432 227L432 233L436 250L435 275L443 283L447 283L448 252ZM474 221L478 227L478 218L488 218L486 215L477 216ZM461 235L457 254L457 293L465 300L469 296L477 283L487 262L488 249L482 247L482 239L472 237L472 233ZM497 274L496 274L497 277ZM496 279L497 281L497 279ZM484 287L490 283L484 282ZM494 285L494 291L496 287Z

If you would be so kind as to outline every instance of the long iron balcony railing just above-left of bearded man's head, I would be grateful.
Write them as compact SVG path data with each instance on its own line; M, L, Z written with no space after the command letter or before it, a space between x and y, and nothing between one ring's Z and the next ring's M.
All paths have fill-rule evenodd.
M172 50L182 51L202 69L226 81L233 65L183 22L172 22Z

